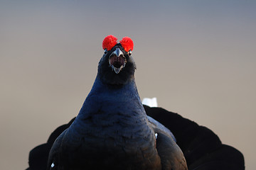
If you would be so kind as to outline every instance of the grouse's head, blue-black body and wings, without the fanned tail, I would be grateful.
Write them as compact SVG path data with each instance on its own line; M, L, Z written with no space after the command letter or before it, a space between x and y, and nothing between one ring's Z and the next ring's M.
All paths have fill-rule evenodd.
M90 93L50 148L47 169L186 170L168 128L146 115L135 84L134 42L107 35Z

